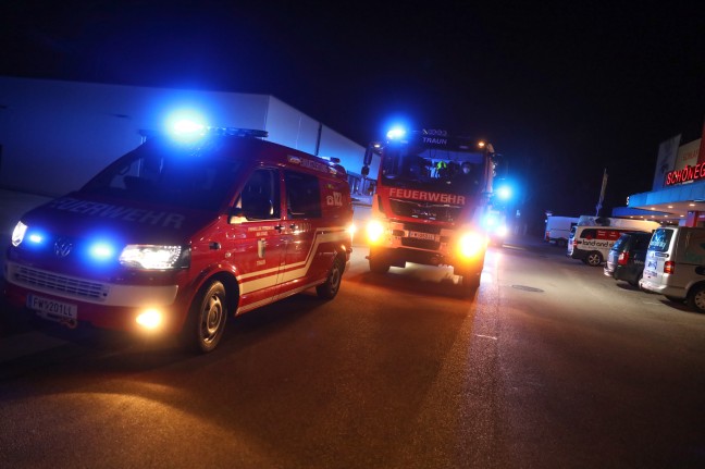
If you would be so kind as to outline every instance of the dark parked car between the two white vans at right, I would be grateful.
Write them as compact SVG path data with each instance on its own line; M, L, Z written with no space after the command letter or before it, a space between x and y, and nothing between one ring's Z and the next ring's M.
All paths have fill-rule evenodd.
M605 275L639 285L651 237L652 234L646 232L622 233L607 254Z

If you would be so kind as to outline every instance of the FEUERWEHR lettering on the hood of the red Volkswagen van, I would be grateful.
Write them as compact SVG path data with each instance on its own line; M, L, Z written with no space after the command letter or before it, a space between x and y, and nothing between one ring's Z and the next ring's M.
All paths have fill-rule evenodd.
M185 215L181 213L136 209L133 207L115 206L112 203L94 202L90 200L63 197L52 201L49 207L57 210L65 210L73 213L82 213L94 217L106 217L127 222L147 223L163 227L178 230L182 227Z

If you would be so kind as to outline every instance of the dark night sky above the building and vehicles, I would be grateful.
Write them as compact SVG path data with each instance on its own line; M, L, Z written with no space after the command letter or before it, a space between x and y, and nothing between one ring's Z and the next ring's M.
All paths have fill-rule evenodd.
M473 3L4 0L0 75L270 94L360 145L395 118L484 137L527 213L594 214L606 168L609 214L700 138L700 2Z

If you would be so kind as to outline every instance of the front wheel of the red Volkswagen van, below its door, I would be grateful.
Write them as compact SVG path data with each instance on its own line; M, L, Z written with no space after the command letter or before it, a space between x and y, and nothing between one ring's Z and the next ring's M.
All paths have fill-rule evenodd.
M191 303L182 332L184 346L201 354L213 351L223 337L226 319L227 294L223 284L214 280Z

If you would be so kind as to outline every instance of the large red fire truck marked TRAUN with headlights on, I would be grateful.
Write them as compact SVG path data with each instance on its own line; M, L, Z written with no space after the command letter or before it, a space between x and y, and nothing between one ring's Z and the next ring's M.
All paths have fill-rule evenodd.
M488 244L492 145L438 129L389 132L385 143L370 144L366 176L374 155L380 170L367 224L370 270L449 266L459 284L474 292Z

